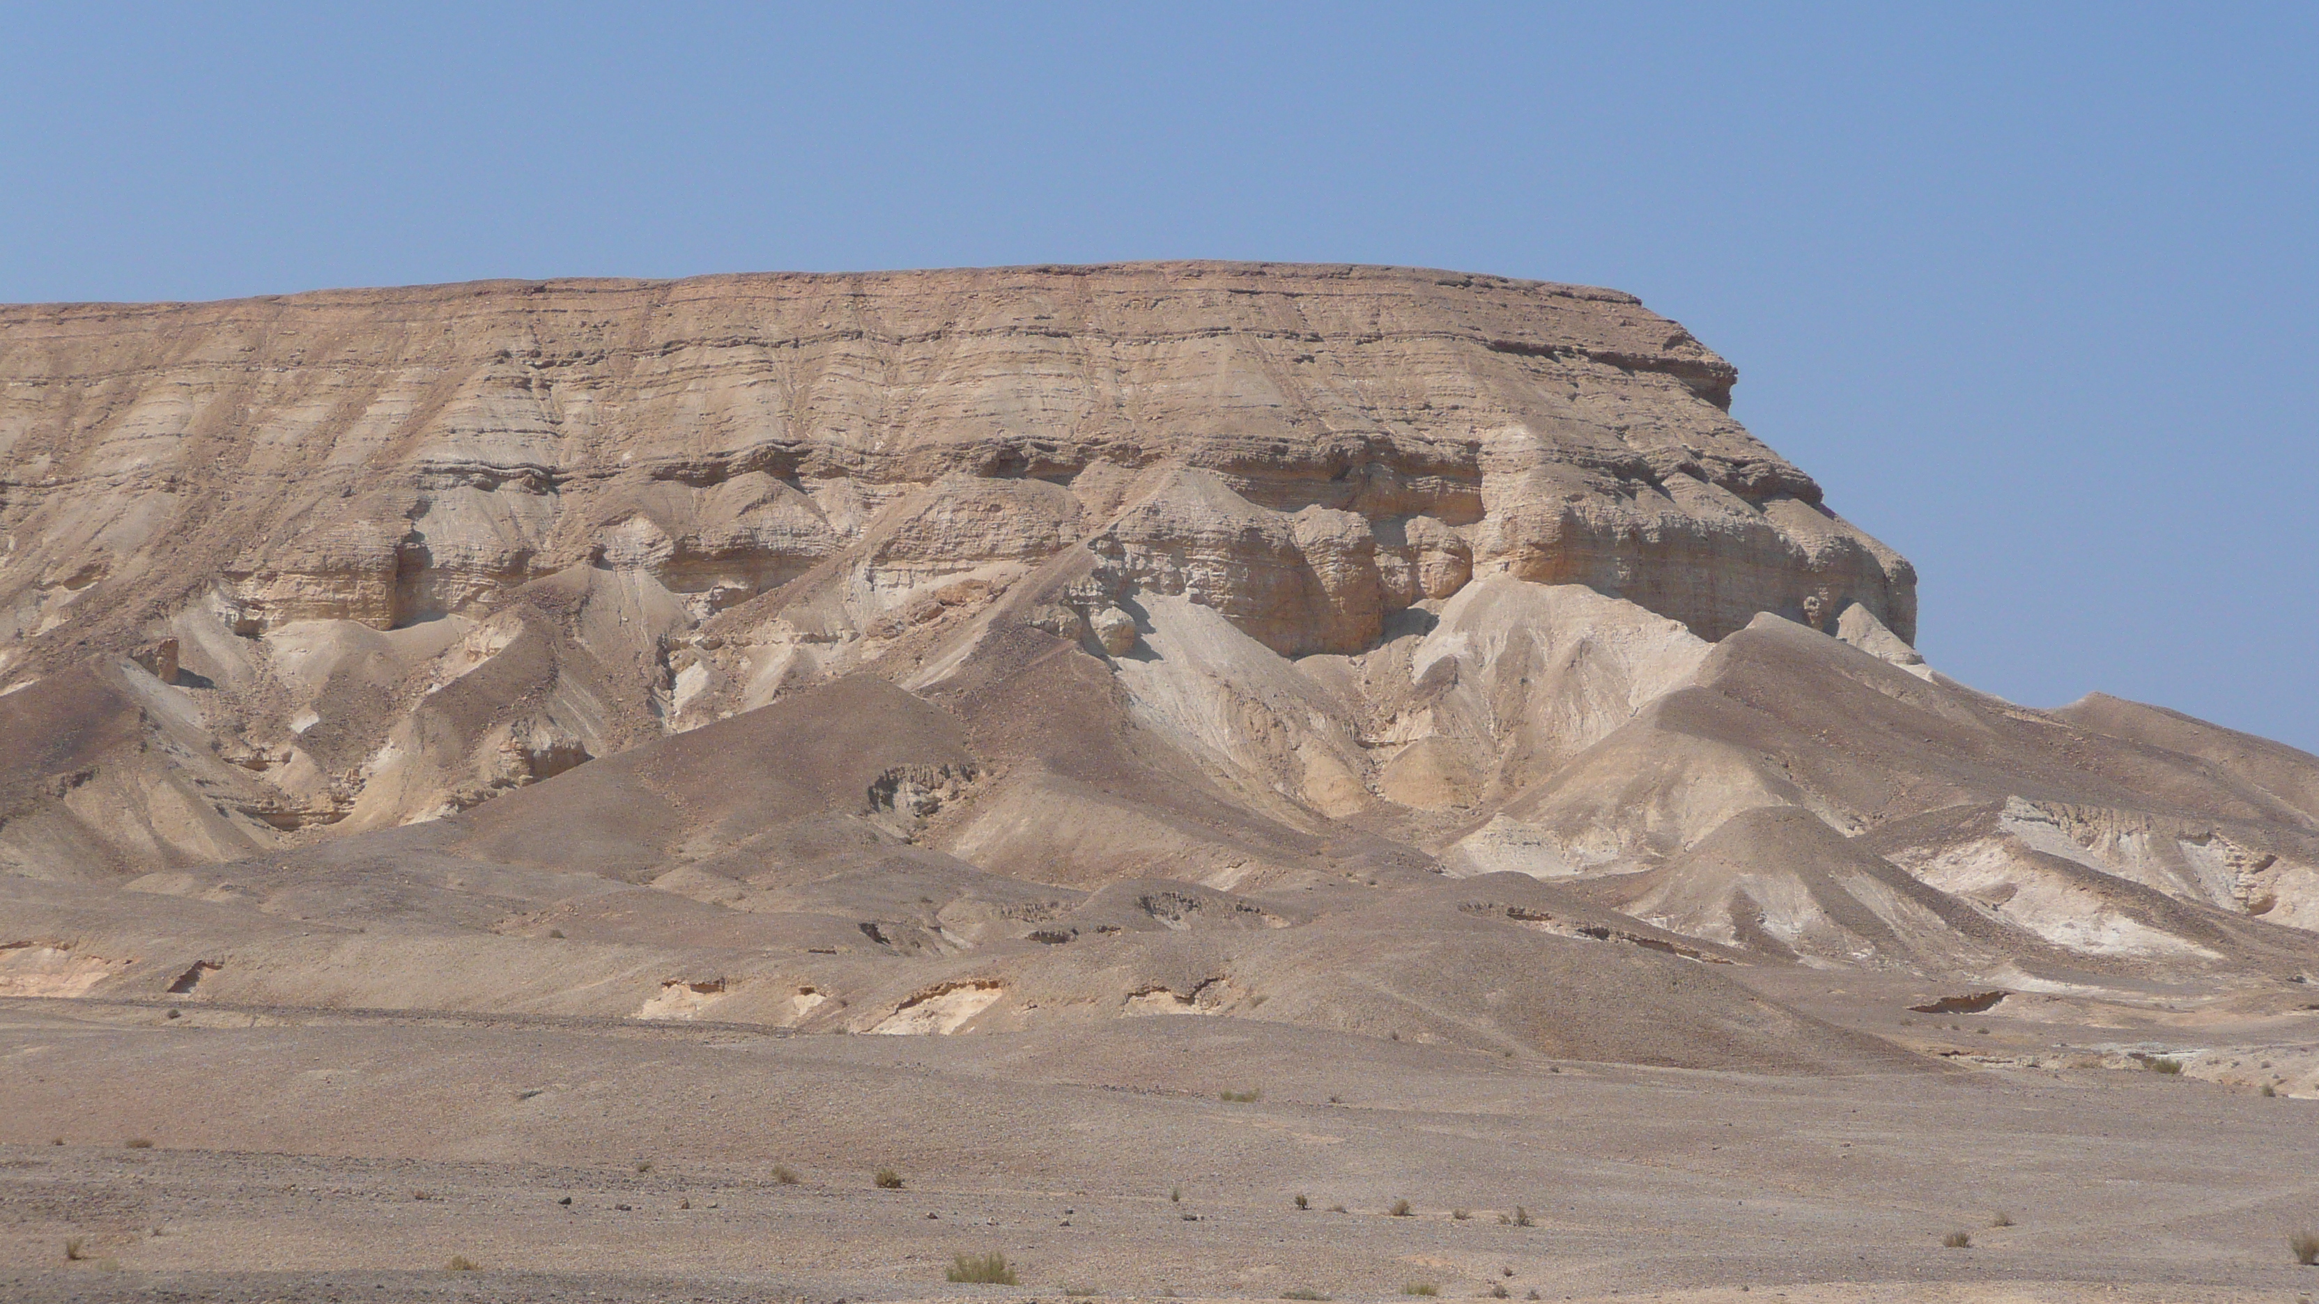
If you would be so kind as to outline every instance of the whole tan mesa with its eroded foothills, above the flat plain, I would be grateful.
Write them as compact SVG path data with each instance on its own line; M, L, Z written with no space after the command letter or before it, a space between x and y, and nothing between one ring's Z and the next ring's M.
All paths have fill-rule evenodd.
M2319 761L1939 675L1732 383L1373 267L0 309L0 993L1772 1063L1540 975L2300 977Z

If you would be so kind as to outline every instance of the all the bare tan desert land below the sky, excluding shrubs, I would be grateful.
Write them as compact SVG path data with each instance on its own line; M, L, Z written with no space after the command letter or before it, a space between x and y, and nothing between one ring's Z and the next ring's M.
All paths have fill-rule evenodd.
M0 309L0 1297L2319 1285L2319 759L1941 675L1735 381L1375 267Z

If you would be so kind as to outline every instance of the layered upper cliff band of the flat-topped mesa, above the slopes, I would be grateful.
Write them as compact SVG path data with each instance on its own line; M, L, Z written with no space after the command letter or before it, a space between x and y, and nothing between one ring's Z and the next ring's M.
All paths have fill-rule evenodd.
M842 559L872 608L1090 548L1287 654L1475 573L1707 638L1911 566L1630 295L1155 262L0 309L0 647L480 615L580 566L684 620ZM211 599L209 594L216 594Z

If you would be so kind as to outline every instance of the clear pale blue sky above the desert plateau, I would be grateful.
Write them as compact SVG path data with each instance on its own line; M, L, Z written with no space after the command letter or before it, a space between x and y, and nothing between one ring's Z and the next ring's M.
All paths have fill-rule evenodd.
M0 7L0 302L1129 258L1633 290L1936 666L2319 749L2319 5Z

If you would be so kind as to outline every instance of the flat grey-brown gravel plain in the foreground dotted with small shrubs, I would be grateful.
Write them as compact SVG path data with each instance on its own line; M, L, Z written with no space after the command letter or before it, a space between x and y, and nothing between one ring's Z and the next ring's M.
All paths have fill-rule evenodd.
M2152 1072L1758 1077L1192 1016L12 1000L0 1299L2310 1299L2314 1121ZM986 1251L1018 1288L944 1281Z

